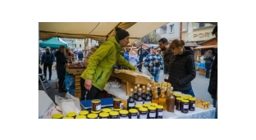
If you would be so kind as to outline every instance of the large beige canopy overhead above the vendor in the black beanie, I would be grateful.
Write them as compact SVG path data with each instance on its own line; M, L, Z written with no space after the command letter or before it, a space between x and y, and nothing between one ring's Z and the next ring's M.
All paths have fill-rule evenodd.
M104 42L115 34L115 27L126 29L130 34L130 43L144 37L153 30L167 25L168 21L40 21L39 38L91 38ZM89 39L86 39L89 40ZM85 43L87 46L88 43Z

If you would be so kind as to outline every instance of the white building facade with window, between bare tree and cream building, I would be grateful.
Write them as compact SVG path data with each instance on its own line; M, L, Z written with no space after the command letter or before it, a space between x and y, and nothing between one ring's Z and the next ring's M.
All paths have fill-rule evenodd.
M170 21L167 25L163 25L156 30L161 38L167 38L169 42L174 39L181 39L181 21Z

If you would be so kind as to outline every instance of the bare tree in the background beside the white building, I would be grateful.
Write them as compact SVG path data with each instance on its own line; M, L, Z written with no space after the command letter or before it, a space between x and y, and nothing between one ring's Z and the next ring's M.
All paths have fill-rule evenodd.
M143 43L158 43L158 40L161 38L160 34L157 34L156 31L153 31L143 38L140 38L136 44L141 45Z

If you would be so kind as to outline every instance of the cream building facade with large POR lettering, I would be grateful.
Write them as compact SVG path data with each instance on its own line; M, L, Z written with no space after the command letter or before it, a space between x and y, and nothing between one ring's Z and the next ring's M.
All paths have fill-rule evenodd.
M192 43L203 43L204 41L215 38L215 36L212 34L212 31L214 29L214 25L208 24L208 23L197 23L192 22L193 25L193 40L190 41ZM182 21L181 26L181 39L186 40L186 35L188 31L189 21Z

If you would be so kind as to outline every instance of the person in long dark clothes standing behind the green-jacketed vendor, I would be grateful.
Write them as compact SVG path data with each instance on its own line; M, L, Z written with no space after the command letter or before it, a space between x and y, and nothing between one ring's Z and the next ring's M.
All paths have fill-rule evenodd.
M64 46L60 46L55 53L56 56L56 70L57 70L57 79L59 85L59 93L66 93L64 87L64 80L66 75L66 48Z

